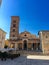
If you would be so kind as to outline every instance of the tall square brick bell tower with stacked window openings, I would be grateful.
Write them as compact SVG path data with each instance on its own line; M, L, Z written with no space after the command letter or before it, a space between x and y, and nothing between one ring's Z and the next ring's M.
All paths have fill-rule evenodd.
M19 37L19 16L11 16L10 44L15 48L16 40Z

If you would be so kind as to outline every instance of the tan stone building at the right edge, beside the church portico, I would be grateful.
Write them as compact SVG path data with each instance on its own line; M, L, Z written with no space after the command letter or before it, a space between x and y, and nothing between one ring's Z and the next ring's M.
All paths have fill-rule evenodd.
M39 37L43 53L49 53L49 31L39 31Z

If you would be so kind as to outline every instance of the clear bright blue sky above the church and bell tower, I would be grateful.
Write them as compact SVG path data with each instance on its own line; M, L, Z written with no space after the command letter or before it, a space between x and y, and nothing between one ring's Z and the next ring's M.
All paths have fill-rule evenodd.
M19 32L38 34L49 30L49 0L2 0L0 8L0 28L9 38L11 16L20 16Z

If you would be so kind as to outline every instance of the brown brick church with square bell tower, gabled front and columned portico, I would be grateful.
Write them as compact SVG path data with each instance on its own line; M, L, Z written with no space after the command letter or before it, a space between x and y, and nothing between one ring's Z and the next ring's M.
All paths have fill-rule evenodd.
M32 51L43 51L44 48L42 34L39 31L39 37L31 34L28 31L19 33L19 16L11 17L11 27L10 27L10 47L16 48L17 50L32 50ZM45 33L46 34L46 33ZM48 33L49 34L49 33ZM44 35L44 34L43 34ZM49 37L48 37L49 38ZM45 50L47 47L45 48ZM49 49L49 46L48 46Z

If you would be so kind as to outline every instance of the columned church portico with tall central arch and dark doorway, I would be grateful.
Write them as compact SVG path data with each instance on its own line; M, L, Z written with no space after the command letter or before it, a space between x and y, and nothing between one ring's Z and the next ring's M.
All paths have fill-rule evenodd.
M32 50L38 51L40 50L40 43L30 42L28 39L23 39L18 43L19 50Z

